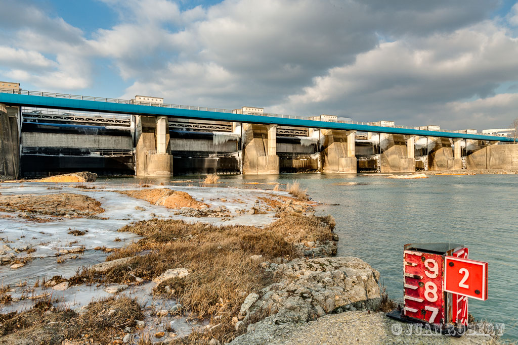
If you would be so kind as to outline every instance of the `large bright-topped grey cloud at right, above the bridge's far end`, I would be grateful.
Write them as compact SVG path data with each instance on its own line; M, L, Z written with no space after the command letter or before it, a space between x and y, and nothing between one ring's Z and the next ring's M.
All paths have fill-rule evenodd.
M500 83L518 80L516 56L518 40L492 22L448 35L382 43L359 54L355 64L315 77L313 85L287 97L277 110L327 108L358 121L395 119L400 125L425 122L452 128L462 119L445 111L445 104L491 97ZM505 112L499 121L509 122L509 117L502 117L508 115Z

